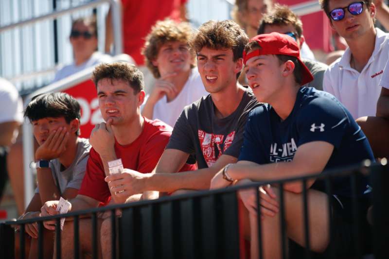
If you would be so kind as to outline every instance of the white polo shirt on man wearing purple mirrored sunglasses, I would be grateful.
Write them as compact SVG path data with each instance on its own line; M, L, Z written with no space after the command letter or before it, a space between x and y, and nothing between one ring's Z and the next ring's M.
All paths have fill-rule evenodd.
M332 93L346 106L354 119L375 116L381 93L379 83L388 61L389 34L378 28L375 30L374 51L361 73L350 67L349 48L324 73L323 90Z

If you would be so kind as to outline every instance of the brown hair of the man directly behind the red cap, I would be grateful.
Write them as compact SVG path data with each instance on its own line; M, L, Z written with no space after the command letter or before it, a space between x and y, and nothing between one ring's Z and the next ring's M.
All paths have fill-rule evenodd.
M276 3L274 8L262 17L257 33L258 35L264 34L266 25L284 26L289 24L295 28L300 38L302 35L301 19L286 5Z

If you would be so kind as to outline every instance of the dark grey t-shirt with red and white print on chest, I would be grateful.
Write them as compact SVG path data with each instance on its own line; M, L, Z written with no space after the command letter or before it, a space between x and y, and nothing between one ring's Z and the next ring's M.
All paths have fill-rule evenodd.
M184 108L166 148L195 154L199 169L211 167L222 154L238 157L248 113L258 105L254 94L246 90L238 108L219 119L211 95L203 96Z

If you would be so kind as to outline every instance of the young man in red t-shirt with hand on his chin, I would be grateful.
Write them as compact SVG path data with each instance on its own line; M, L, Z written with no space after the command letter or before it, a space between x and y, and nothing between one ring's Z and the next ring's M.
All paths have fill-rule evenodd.
M128 172L152 171L172 131L161 121L150 121L141 116L144 83L142 73L135 66L127 63L102 64L93 71L93 80L106 123L96 125L90 135L92 149L87 171L78 195L70 200L70 211L104 206L111 198L115 203L138 201L140 192L128 194ZM108 162L118 158L122 159L125 169L109 176ZM192 167L184 166L184 169L191 170ZM42 215L57 214L57 204L57 201L47 202L41 209ZM111 242L108 241L111 237L110 219L103 220L104 216L99 217L97 231L98 235L101 232L101 248L103 255L107 256L111 255ZM44 223L48 229L54 229L54 224L55 221ZM79 226L83 233L80 236L81 253L89 254L92 251L90 218L80 219ZM72 222L66 221L61 235L63 258L73 256L73 238Z

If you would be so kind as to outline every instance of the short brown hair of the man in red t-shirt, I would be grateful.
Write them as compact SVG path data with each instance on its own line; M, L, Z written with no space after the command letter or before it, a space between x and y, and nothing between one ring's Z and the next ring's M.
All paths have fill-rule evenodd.
M108 78L111 80L122 80L134 89L134 94L144 89L143 73L134 65L126 62L112 64L101 64L92 73L92 80L97 87L100 80Z

